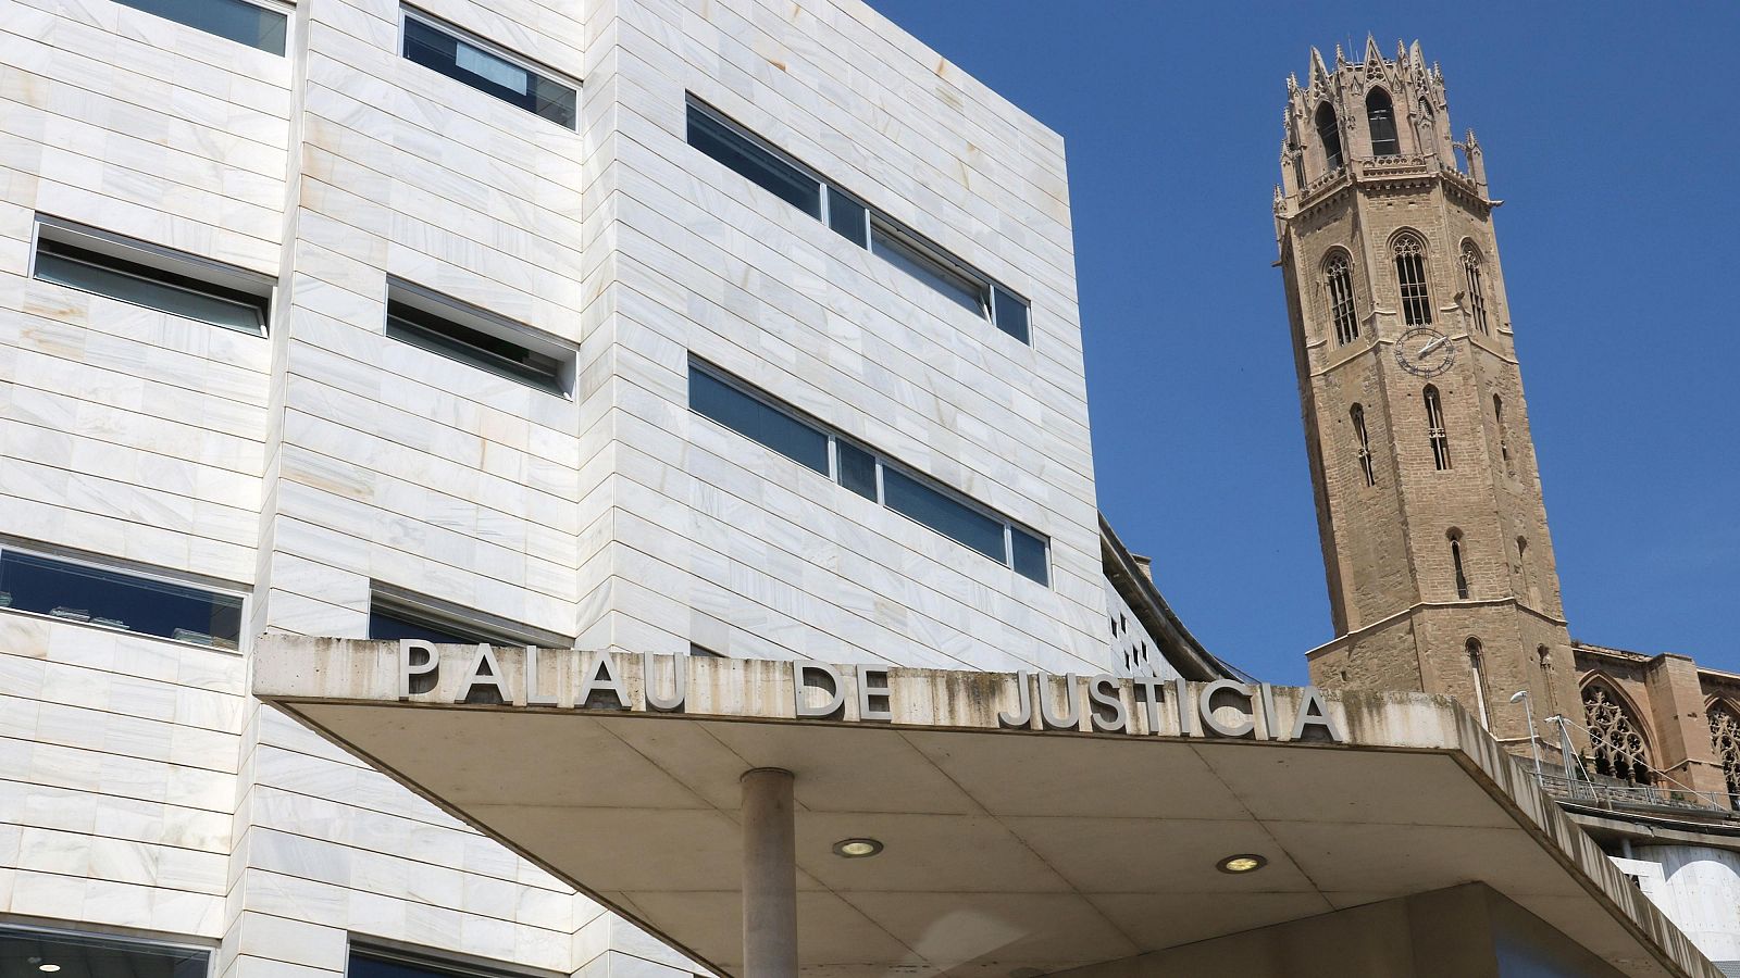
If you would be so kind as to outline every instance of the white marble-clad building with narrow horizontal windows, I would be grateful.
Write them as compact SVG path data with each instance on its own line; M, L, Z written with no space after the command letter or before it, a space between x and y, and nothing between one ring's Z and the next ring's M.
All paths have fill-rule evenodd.
M689 971L251 637L1107 670L1070 235L858 0L0 0L0 966Z

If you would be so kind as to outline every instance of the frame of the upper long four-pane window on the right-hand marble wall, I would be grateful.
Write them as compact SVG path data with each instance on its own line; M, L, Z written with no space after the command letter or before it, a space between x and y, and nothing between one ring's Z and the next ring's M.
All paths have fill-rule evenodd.
M743 179L746 179L750 183L755 183L757 186L760 186L764 191L771 193L773 197L776 197L780 200L785 200L786 204L792 204L793 207L797 207L799 211L802 211L806 216L814 218L816 221L821 221L823 226L826 226L833 233L837 233L842 238L856 244L858 247L865 249L867 252L870 252L873 256L877 256L877 251L873 247L875 235L877 235L877 230L880 230L884 233L884 237L894 240L896 247L903 247L907 251L915 252L915 258L919 261L922 261L922 263L936 265L938 271L941 275L957 277L957 278L962 278L964 282L971 284L980 292L980 311L978 311L978 318L980 320L988 322L990 325L997 327L999 332L1007 334L1009 338L1016 339L1018 343L1021 343L1021 345L1025 345L1028 348L1034 346L1034 303L1032 303L1032 299L1028 299L1027 296L1023 296L1023 294L1016 292L1014 289L1004 285L1000 280L987 275L985 271L981 271L980 268L976 268L969 261L955 256L952 251L948 251L943 245L933 242L931 238L920 235L919 231L912 230L905 223L894 219L886 211L880 211L879 207L872 207L868 202L865 202L863 197L860 197L860 195L846 190L844 186L840 186L839 183L835 183L833 179L830 179L826 174L823 174L816 167L811 167L804 160L799 160L792 153L786 153L785 150L774 146L773 143L769 143L767 139L764 139L762 136L759 136L753 129L750 129L748 125L743 125L741 122L731 118L729 115L726 115L720 110L717 110L715 106L712 106L710 103L706 103L705 99L701 99L694 92L686 92L686 103L684 104L686 104L686 110L684 110L684 120L686 122L687 122L687 113L691 113L691 111L705 115L713 124L726 127L729 132L733 132L734 136L748 141L752 146L762 150L764 153L767 153L774 160L778 160L778 162L781 162L781 164L795 169L797 172L800 172L807 179L814 179L816 184L818 184L818 188L820 188L820 207L818 207L820 212L818 214L809 214L809 211L804 211L802 207L792 204L790 200L785 200L778 193L774 193L774 191L767 190L766 186L762 186L760 183L757 183L753 178L745 176L743 172L736 171L734 167L731 167L731 164L726 164L726 162L719 160L717 157L706 153L699 146L694 146L694 143L689 143L689 139L687 139L687 125L686 125L684 141L691 148L694 148L696 151L699 151L703 157L713 160L715 164L726 167L727 171L738 174L740 178L743 178ZM835 223L833 223L833 200L835 198L840 198L844 204L849 204L853 209L861 209L863 211L863 238L861 240L856 238L856 237L853 237L853 235L847 235L842 228L835 226ZM877 256L877 258L882 258L882 256ZM894 265L896 268L900 268L900 265L896 265L894 261L889 261L887 258L882 258L882 261L887 263L887 265ZM919 278L917 275L914 275L912 271L907 271L905 268L900 268L900 271L905 273L905 275L908 275L908 277L912 277L912 278ZM941 294L943 298L950 299L950 305L960 306L960 303L954 301L952 296L948 296L941 289L936 289L929 282L924 282L924 278L919 278L919 282L924 284L926 287L929 287L931 291ZM997 311L997 296L999 296L999 292L1023 310L1021 322L1018 322L1018 324L1016 322L1002 322L1004 317L999 315L999 311ZM960 306L960 308L964 310L964 306Z

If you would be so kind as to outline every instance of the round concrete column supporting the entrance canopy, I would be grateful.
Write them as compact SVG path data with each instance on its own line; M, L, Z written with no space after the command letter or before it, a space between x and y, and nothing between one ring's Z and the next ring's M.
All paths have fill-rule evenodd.
M797 830L780 767L743 774L743 975L797 978Z

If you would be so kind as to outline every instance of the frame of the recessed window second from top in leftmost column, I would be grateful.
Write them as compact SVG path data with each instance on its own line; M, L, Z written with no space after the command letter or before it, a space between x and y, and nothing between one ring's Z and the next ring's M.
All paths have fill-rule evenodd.
M124 299L120 296L111 296L108 292L97 292L84 285L68 285L66 282L57 282L54 278L44 278L38 268L38 259L42 258L42 242L50 242L54 245L70 247L77 251L85 251L101 258L110 258L122 265L130 265L151 271L167 275L171 280L151 278L148 275L139 275L127 268L110 268L96 261L82 259L77 256L50 254L59 261L73 261L99 271L108 271L110 275L120 275L125 278L136 278L139 282L148 282L164 289L172 289L179 292L188 292L191 296L204 296L207 299L218 299L223 303L231 303L237 306L251 306L259 313L259 329L242 329L238 325L230 325L224 322L212 322L202 317L190 317L176 310L165 310L153 305L136 303L132 299ZM251 268L242 268L238 265L228 265L202 254L193 254L190 251L179 251L157 242L148 242L143 238L132 238L117 231L97 228L92 224L84 224L80 221L71 221L66 218L57 218L54 214L35 212L30 228L30 266L26 275L33 282L44 282L57 289L71 289L75 292L84 292L87 296L101 296L111 303L124 303L141 310L151 310L167 317L205 324L216 329L228 329L231 332L240 332L242 336L271 336L271 317L277 311L278 298L278 280L263 271L254 271ZM200 289L198 285L205 285ZM242 296L256 299L256 303L245 301Z

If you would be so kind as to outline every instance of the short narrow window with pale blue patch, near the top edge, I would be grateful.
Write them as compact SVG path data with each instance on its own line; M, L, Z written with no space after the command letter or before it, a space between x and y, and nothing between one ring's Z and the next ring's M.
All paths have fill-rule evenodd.
M405 9L404 56L456 82L574 129L579 90L498 45Z

